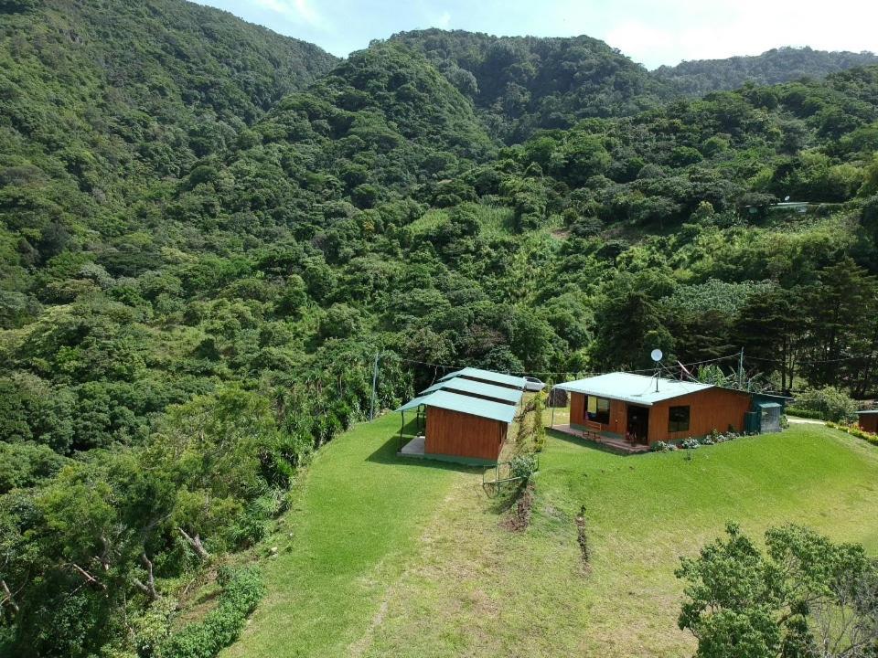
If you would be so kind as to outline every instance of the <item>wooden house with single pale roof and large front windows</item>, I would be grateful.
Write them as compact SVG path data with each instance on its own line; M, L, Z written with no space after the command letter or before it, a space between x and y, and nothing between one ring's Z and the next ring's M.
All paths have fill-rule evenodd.
M752 397L745 391L630 373L559 385L570 393L570 425L594 439L649 445L744 431Z

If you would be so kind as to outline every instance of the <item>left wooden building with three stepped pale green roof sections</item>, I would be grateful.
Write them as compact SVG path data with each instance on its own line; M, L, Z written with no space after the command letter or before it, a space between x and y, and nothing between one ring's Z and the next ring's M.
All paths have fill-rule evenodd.
M397 409L402 413L401 443L406 411L416 410L423 429L423 434L401 445L399 454L444 462L496 463L523 389L524 377L476 368L443 377Z

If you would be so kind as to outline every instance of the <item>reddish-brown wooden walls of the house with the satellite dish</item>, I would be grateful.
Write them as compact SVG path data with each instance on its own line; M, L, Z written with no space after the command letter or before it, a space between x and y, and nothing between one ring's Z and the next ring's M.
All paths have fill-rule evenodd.
M637 405L640 406L640 405ZM669 432L668 415L671 407L689 407L689 430ZM570 394L570 422L585 423L585 396ZM750 396L725 388L707 388L697 393L663 400L649 409L649 443L659 440L680 440L710 434L714 428L726 431L744 430L744 415L750 410ZM627 406L621 400L610 400L610 422L601 425L602 431L625 435L627 430Z

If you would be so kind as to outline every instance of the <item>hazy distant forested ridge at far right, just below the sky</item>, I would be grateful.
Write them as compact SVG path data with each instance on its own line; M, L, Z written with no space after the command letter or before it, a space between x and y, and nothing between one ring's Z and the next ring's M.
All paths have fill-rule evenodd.
M787 47L750 57L684 61L677 66L659 67L652 75L668 82L675 92L701 96L711 91L737 89L745 82L764 85L823 78L830 73L870 64L878 64L878 55Z

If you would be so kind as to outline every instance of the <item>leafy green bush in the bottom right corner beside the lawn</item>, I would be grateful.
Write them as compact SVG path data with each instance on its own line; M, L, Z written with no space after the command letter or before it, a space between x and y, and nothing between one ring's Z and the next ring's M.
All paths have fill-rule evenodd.
M696 656L876 655L878 560L862 546L783 525L766 532L764 554L737 525L726 533L676 571Z

